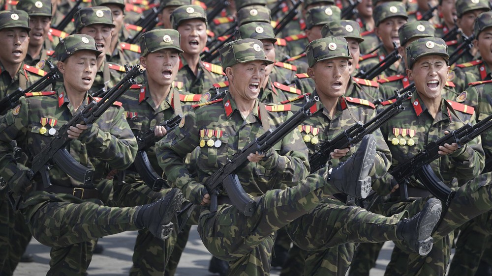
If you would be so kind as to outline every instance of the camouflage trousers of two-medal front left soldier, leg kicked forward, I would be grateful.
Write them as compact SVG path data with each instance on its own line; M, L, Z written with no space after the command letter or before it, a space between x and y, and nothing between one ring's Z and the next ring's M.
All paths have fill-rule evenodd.
M94 202L46 201L21 209L32 236L51 247L47 275L84 275L91 262L95 239L138 230L135 208L101 206Z

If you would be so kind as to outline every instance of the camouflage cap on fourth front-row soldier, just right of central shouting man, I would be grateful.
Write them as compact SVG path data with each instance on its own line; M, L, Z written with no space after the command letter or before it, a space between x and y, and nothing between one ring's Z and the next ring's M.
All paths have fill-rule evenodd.
M336 57L352 59L347 40L339 36L328 36L311 41L307 44L306 56L309 67L313 67L318 61Z

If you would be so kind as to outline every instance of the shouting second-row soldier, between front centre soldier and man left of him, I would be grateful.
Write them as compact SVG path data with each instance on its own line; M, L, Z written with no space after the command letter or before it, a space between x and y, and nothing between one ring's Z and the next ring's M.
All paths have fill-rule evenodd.
M212 84L225 81L222 67L201 61L200 54L207 43L207 15L202 7L183 5L171 16L173 28L181 34L181 49L177 80L184 83L184 90L203 94Z

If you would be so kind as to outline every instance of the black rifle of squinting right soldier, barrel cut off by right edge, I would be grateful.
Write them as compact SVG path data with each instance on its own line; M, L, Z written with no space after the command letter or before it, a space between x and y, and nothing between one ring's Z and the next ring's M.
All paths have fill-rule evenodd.
M421 152L391 170L390 174L400 184L402 198L408 198L407 185L410 182L409 178L415 175L429 192L439 200L446 202L446 205L449 205L456 192L452 191L435 175L430 165L432 161L441 157L437 153L439 146L457 143L458 147L461 148L462 145L473 140L490 127L492 127L492 115L474 125L466 124L435 141L431 141Z

